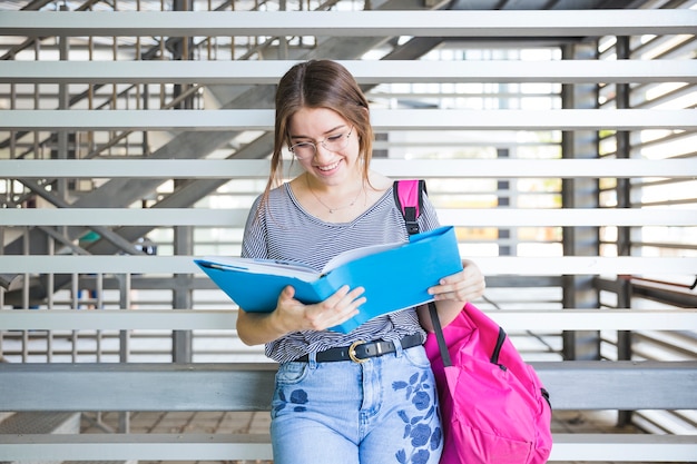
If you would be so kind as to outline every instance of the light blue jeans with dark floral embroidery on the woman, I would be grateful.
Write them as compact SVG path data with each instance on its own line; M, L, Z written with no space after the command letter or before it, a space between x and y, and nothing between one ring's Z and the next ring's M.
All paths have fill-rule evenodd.
M436 464L443 445L423 346L370 358L279 366L275 464Z

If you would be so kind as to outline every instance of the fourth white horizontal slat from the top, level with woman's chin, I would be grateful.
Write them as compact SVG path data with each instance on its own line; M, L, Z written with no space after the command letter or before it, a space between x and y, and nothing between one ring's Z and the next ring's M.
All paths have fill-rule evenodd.
M286 162L285 175L297 175ZM293 165L289 167L289 165ZM697 176L695 159L373 159L397 178L628 178ZM22 159L0 160L2 178L266 179L267 159Z

